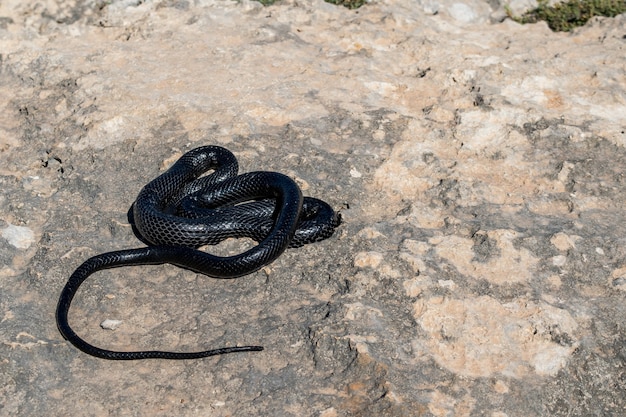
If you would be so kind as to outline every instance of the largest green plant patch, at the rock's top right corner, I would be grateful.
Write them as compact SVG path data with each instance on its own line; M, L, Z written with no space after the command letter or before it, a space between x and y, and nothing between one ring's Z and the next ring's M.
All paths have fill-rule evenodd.
M521 17L513 16L507 9L507 14L518 23L536 23L546 21L550 29L555 32L569 32L583 26L594 16L615 17L626 13L626 0L569 0L548 5L548 0L538 0L537 7L524 13Z

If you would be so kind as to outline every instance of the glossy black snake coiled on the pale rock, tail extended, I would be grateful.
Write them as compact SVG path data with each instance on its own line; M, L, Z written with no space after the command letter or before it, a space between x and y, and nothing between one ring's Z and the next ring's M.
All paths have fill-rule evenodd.
M201 177L209 170L214 171ZM287 247L330 237L341 222L325 202L303 198L297 184L283 174L237 172L237 160L230 151L204 146L187 152L148 183L135 200L132 214L136 231L149 246L103 253L74 271L57 305L57 326L63 337L92 356L117 360L195 359L263 350L238 346L201 352L117 352L89 344L68 323L72 299L96 271L169 263L213 278L237 278L273 262ZM229 237L249 237L258 245L229 257L197 249Z

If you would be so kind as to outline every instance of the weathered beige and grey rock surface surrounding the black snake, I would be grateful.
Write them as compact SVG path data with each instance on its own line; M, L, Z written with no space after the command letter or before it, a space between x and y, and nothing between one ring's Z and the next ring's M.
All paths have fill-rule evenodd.
M502 16L2 2L0 414L624 415L626 19L564 34ZM237 280L98 273L70 317L112 349L265 351L83 354L54 321L65 281L141 246L137 192L205 144L345 223Z

